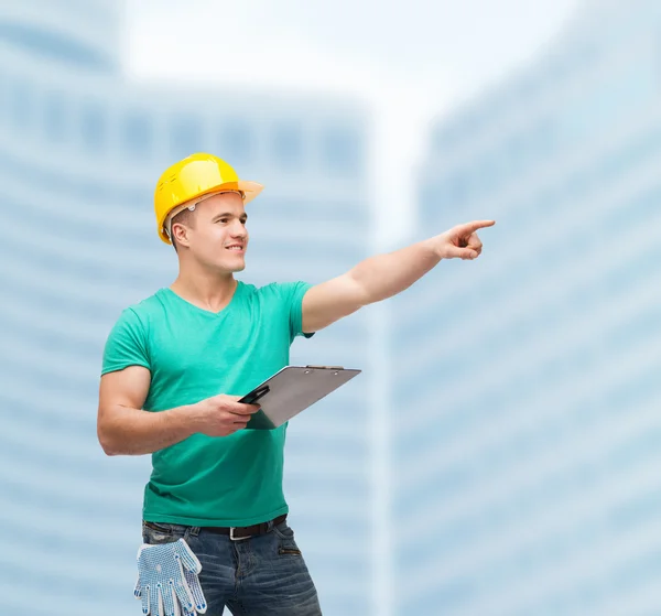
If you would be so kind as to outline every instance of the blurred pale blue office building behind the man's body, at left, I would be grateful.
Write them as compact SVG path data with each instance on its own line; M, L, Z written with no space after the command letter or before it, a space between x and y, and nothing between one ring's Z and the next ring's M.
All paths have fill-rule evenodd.
M131 83L123 19L116 0L0 9L2 614L140 612L132 593L149 456L105 456L97 395L121 310L176 275L153 216L167 165L208 151L266 185L249 205L245 282L322 282L368 250L360 105ZM366 318L296 341L291 361L365 368ZM329 616L370 613L369 378L288 433L292 526Z

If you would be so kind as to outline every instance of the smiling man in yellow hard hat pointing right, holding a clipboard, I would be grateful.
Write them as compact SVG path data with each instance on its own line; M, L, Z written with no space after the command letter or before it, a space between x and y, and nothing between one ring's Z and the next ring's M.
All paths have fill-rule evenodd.
M441 259L477 258L476 231L494 225L457 226L314 287L258 289L234 274L246 267L245 206L261 190L209 154L167 169L154 208L178 275L126 309L106 344L100 444L152 454L136 587L144 614L321 614L286 523L286 428L245 430L259 406L237 400L288 365L296 336L395 295Z

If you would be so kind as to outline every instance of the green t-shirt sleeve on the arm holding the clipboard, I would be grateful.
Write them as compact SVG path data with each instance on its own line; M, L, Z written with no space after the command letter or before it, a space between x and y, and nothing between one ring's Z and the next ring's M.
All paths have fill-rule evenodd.
M144 325L132 309L126 309L121 313L108 335L104 348L101 375L123 370L129 366L143 366L151 369Z

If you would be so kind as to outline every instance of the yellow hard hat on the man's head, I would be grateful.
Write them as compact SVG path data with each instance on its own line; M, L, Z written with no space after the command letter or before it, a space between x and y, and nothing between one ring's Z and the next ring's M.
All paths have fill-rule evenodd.
M169 166L156 184L154 213L159 237L165 244L172 244L165 221L170 213L180 208L182 204L209 193L221 192L238 192L243 197L243 203L248 203L262 190L263 186L257 182L239 180L237 172L218 156L205 153L191 154Z

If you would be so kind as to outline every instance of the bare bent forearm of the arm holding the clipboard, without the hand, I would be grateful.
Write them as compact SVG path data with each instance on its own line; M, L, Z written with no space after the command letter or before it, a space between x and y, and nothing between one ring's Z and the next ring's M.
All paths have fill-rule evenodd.
M98 423L98 437L108 455L144 455L180 443L196 432L194 408L149 412L118 406Z

